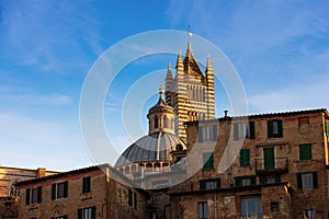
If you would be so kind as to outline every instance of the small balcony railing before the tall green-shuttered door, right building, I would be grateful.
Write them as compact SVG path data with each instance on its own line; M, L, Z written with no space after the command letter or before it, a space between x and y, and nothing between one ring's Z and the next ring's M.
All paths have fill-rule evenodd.
M256 159L256 173L258 174L284 173L287 171L287 158Z

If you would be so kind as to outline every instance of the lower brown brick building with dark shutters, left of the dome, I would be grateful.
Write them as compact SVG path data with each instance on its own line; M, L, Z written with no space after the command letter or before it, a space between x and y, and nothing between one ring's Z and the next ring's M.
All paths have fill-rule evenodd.
M109 164L23 181L16 186L21 191L19 218L147 218L147 193L136 189Z

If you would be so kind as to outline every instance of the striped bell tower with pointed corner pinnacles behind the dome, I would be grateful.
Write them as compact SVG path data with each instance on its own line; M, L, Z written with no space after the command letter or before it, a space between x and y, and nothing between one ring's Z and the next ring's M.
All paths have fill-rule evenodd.
M215 85L211 57L207 57L203 71L193 56L191 41L182 58L178 54L175 76L173 78L169 64L166 74L166 102L175 113L175 134L186 140L184 123L215 118Z

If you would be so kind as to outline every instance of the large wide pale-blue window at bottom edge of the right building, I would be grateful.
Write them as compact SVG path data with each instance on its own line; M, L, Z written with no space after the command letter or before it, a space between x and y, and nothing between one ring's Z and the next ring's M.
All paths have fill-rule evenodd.
M242 218L262 218L262 205L259 196L250 196L241 198L241 216Z

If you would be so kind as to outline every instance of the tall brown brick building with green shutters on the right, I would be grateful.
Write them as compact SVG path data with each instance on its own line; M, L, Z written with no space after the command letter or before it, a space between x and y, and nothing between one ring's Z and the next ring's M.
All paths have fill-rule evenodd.
M171 218L328 218L327 110L189 122Z

